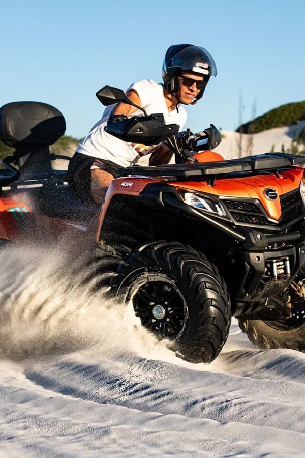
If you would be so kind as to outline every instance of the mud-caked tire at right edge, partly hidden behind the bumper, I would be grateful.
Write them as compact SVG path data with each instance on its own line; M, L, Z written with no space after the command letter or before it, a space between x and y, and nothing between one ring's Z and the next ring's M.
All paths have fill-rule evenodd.
M294 329L276 329L272 322L238 318L239 327L247 334L250 342L259 348L290 348L305 352L305 323Z

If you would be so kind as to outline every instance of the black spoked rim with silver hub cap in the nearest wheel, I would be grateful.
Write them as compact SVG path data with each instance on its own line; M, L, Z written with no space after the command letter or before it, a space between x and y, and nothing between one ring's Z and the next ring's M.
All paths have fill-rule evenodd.
M178 339L184 332L188 318L186 301L165 275L137 279L129 299L142 325L160 339Z

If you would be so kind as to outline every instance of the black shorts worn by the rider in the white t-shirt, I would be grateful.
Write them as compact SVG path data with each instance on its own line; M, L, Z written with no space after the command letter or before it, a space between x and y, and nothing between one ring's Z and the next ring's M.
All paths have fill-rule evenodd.
M91 169L99 168L118 178L116 170L119 165L111 161L105 161L96 157L87 156L82 153L74 153L69 162L67 181L69 186L82 198L82 200L92 199L91 195Z

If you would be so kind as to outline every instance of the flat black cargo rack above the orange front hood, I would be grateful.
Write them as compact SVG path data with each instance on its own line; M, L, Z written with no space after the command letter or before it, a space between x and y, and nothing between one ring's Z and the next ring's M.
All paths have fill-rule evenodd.
M118 168L118 175L141 175L148 177L196 177L236 172L276 170L305 164L305 156L287 153L265 153L219 162L196 162L192 164L154 165L148 167Z

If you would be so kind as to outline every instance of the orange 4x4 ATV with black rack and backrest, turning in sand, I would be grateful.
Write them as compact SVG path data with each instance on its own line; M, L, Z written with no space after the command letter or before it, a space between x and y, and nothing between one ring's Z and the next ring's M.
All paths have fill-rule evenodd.
M123 91L98 92L104 105ZM144 110L143 110L144 111ZM0 139L15 147L0 171L2 244L63 234L110 276L109 294L132 303L142 325L191 362L211 362L231 316L260 348L305 351L304 156L266 153L225 161L210 150L217 129L177 142L162 115L106 127L125 141L164 141L176 164L118 169L105 203L82 203L53 170L49 145L65 132L62 114L37 102L0 108ZM16 169L12 163L18 165ZM101 269L97 271L97 274ZM107 277L109 278L109 277Z

